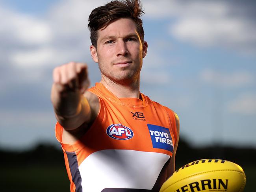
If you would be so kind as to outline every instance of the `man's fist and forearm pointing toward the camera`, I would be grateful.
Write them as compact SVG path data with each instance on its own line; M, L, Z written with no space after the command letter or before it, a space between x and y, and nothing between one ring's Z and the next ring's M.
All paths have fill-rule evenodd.
M58 122L70 131L91 118L91 107L83 93L89 86L87 65L70 62L53 71L51 101Z

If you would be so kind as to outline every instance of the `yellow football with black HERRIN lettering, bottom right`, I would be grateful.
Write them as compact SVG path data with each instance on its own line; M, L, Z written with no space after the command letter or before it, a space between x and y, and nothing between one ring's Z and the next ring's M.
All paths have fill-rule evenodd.
M176 170L160 192L242 192L246 177L234 162L201 159Z

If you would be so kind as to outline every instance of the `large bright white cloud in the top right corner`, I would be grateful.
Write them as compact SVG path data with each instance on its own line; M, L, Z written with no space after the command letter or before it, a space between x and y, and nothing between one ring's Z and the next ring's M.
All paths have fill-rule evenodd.
M192 44L256 51L254 20L236 13L233 4L228 2L191 1L184 4L183 10L179 7L176 22L170 24L169 29L177 39Z

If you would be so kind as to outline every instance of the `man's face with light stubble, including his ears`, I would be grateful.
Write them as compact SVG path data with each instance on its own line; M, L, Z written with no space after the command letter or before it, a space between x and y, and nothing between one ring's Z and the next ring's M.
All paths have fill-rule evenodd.
M93 46L90 49L102 78L121 84L139 80L147 42L141 42L133 20L120 18L98 30L97 49Z

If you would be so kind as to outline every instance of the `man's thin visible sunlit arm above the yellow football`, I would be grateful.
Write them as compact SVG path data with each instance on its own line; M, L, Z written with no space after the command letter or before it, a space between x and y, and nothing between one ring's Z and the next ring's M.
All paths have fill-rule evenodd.
M179 117L176 113L174 113L174 115L175 115L176 127L177 127L177 141L174 145L173 156L171 157L171 161L170 161L170 163L168 165L168 168L167 168L167 178L170 177L171 175L173 175L173 173L175 172L175 154L176 154L176 151L177 151L179 135L180 135L180 120L179 120Z

